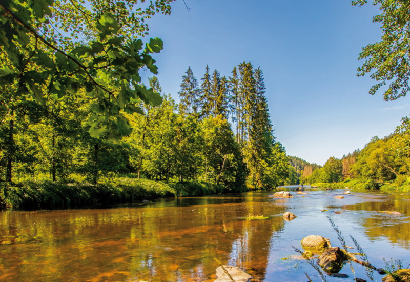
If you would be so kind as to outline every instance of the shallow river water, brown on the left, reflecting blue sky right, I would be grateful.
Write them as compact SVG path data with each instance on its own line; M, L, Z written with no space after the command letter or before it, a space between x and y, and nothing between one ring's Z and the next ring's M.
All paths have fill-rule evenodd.
M273 192L159 199L111 209L0 212L0 281L214 281L218 259L247 270L251 281L321 281L292 246L308 235L348 246L352 235L376 267L410 263L410 195L306 189L294 198ZM327 211L322 211L327 210ZM290 211L298 217L285 221ZM335 213L341 212L341 213ZM398 211L397 216L383 211ZM249 220L249 215L269 216ZM352 250L352 252L356 252ZM368 280L364 268L349 278ZM375 273L375 281L381 275Z

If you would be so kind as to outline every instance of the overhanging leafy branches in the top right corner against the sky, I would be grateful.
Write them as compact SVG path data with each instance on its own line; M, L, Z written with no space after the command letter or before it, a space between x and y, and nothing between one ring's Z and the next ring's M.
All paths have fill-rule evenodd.
M366 2L354 0L352 5L361 6ZM410 4L401 0L373 0L372 4L379 6L381 11L373 17L373 22L381 23L382 37L380 42L367 45L359 54L359 59L365 61L358 68L357 75L371 73L370 77L377 81L369 91L372 95L383 85L389 84L384 99L394 100L405 96L410 90Z

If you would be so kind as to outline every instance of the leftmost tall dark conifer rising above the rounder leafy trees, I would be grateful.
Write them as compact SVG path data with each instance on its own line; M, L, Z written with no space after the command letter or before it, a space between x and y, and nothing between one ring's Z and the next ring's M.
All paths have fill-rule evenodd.
M179 112L196 114L198 111L198 80L190 67L188 67L186 74L182 76L181 91L178 92L180 98Z

